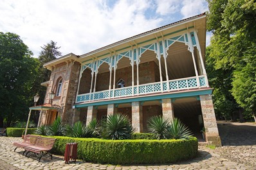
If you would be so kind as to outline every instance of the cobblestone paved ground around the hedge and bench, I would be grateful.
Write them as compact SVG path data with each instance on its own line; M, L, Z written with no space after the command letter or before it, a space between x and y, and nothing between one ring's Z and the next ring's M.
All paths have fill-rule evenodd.
M219 123L223 147L199 148L196 158L168 165L112 166L77 162L64 164L63 157L42 158L37 162L35 155L29 158L23 150L14 152L14 137L0 137L0 169L256 169L256 124Z

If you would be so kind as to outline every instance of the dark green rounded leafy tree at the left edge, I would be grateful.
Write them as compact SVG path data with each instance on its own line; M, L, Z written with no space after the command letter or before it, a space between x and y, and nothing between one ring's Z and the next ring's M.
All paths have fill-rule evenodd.
M19 35L0 32L0 115L6 126L26 119L38 69L39 61Z

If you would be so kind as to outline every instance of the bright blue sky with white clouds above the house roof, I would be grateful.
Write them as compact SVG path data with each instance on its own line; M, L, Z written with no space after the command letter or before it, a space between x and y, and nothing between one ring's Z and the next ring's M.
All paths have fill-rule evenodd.
M83 55L206 12L207 5L205 0L0 0L0 31L19 35L34 57L51 40L62 55Z

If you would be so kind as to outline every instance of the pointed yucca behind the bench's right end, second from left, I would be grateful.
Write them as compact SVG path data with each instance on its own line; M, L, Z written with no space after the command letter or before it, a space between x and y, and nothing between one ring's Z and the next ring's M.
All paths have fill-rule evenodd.
M63 136L66 133L66 125L62 124L60 117L57 117L53 124L48 128L49 136Z

